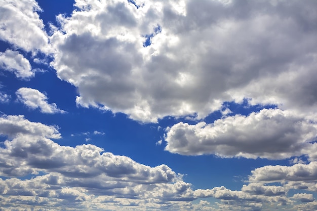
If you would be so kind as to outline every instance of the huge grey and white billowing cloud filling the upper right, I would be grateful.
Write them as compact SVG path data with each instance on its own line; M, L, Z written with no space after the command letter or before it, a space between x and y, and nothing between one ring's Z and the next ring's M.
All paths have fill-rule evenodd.
M316 111L316 2L135 3L77 0L59 16L52 65L78 105L145 122L245 98Z

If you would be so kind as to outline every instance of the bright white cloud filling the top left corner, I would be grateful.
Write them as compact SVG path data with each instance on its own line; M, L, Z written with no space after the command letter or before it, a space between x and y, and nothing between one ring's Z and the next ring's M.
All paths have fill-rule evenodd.
M49 53L48 36L37 14L35 0L3 0L0 2L0 39L24 51Z

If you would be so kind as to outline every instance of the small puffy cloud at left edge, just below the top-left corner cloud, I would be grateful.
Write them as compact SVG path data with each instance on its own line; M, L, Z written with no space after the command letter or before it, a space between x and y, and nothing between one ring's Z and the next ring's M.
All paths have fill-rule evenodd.
M18 78L30 78L34 76L29 61L19 52L9 49L4 53L0 52L0 68L14 72Z

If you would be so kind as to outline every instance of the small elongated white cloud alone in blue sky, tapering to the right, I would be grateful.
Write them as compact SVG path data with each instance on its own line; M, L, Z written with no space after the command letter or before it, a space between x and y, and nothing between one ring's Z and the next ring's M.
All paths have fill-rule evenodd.
M57 108L55 103L49 104L48 97L31 88L20 88L16 92L18 101L22 102L30 109L39 109L42 113L64 113L65 111Z

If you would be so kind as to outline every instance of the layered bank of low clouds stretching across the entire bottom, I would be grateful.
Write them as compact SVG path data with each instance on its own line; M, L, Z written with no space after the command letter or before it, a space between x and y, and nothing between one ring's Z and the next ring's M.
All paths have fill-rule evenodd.
M296 207L308 210L315 203L309 193L287 196L290 189L304 189L292 182L313 190L315 162L256 168L240 191L193 190L167 165L146 166L91 144L61 146L51 140L61 138L57 126L23 116L0 117L0 134L8 137L0 148L0 174L7 177L0 179L2 210L72 210L69 203L76 210L265 210L279 204L293 210L290 205L296 201L302 203ZM279 167L284 170L275 170ZM282 173L290 176L277 175ZM30 174L29 179L17 178ZM282 186L265 185L272 182ZM192 203L209 197L221 203Z

